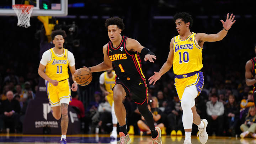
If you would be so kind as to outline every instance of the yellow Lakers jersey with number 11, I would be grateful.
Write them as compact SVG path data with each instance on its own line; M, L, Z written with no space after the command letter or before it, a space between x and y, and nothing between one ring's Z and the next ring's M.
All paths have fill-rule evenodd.
M46 65L46 75L57 81L68 79L68 50L64 48L61 56L56 55L53 48L49 50L52 58Z

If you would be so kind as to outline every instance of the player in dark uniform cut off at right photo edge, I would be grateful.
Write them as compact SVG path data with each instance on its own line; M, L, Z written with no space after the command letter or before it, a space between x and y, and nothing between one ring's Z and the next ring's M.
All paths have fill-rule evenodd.
M256 45L254 47L256 53ZM245 83L247 86L254 86L254 105L256 106L256 94L255 94L255 82L256 82L256 57L248 60L245 64Z

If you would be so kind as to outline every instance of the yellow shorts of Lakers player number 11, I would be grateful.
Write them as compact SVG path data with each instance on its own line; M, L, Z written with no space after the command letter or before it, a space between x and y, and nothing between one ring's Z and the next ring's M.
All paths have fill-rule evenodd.
M57 86L47 81L46 88L49 103L52 107L60 106L61 103L69 104L71 96L69 79L60 81Z

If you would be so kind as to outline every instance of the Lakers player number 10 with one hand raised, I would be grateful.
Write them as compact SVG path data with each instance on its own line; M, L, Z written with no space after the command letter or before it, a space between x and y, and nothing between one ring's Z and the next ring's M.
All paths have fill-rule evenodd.
M235 21L233 14L226 21L220 20L223 29L217 34L205 34L190 32L192 26L192 17L186 12L178 13L174 16L176 29L179 33L171 39L170 52L167 61L164 63L159 72L155 72L149 78L149 84L153 85L165 74L173 64L175 76L175 87L178 97L181 101L183 110L182 122L185 129L184 144L191 144L192 123L198 126L199 139L202 144L207 142L208 134L206 132L207 120L200 119L196 112L195 101L203 89L204 77L199 70L202 69L202 47L204 42L221 41Z

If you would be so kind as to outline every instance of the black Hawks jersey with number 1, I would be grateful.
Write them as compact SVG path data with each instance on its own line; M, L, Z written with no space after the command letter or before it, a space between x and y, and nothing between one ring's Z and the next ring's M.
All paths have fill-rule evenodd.
M127 80L140 77L145 80L140 54L126 49L127 38L122 36L122 41L117 48L113 47L111 41L108 42L108 57L112 61L113 69L117 76L125 77Z

